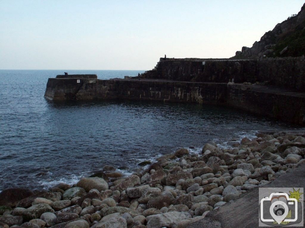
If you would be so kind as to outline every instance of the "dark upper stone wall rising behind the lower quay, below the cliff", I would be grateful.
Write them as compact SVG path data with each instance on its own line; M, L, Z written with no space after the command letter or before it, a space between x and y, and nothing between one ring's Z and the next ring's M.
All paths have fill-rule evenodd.
M203 65L203 61L205 65ZM155 69L142 77L196 82L267 82L283 88L305 90L305 58L248 60L160 59Z

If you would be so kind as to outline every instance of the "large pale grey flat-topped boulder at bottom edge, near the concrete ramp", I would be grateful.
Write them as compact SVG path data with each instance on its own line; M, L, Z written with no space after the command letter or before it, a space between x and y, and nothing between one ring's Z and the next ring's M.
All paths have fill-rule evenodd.
M183 212L166 212L163 214L151 215L146 217L147 228L173 227L182 219L188 219Z

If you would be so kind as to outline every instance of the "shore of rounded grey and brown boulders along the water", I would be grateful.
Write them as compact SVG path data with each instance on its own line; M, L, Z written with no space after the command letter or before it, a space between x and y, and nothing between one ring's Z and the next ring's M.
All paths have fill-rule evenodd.
M304 162L302 133L257 133L229 144L206 143L201 154L178 149L129 177L105 166L74 186L6 189L0 228L187 227Z

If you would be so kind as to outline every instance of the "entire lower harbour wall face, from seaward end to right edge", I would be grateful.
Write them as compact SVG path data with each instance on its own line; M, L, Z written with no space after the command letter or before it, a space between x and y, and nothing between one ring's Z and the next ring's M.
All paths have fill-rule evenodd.
M79 82L77 82L79 80ZM155 100L220 104L305 125L305 95L260 85L142 79L48 79L45 97L66 100Z

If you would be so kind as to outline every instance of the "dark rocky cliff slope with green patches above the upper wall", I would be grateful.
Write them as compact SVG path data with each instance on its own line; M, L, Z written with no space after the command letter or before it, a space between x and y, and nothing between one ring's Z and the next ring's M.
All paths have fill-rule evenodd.
M242 47L232 58L301 56L305 54L305 3L297 15L278 23L255 41L252 47Z

